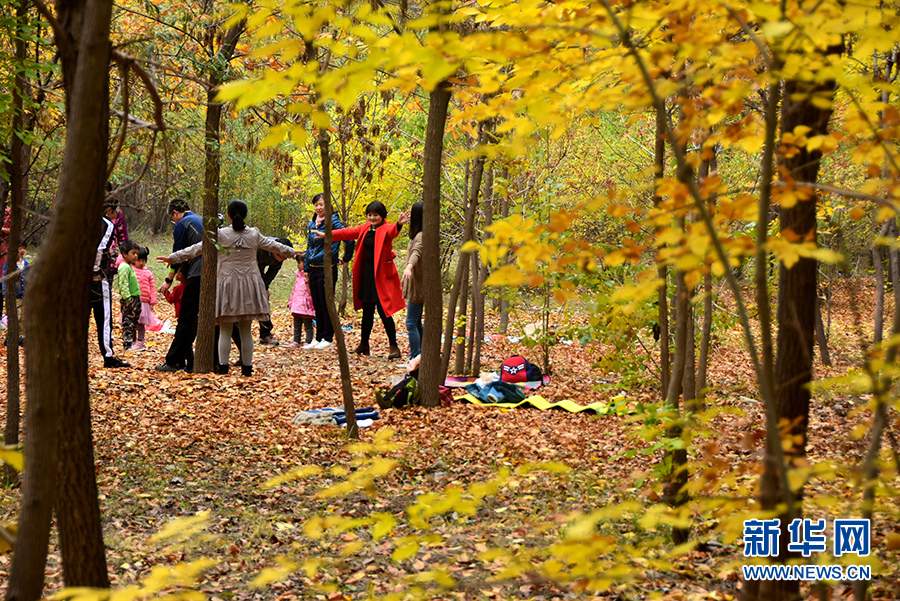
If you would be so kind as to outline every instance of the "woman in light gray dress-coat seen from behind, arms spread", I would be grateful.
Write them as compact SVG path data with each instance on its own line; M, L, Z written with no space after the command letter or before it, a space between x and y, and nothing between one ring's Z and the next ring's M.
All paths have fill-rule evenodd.
M259 267L256 264L256 250L261 248L272 252L283 261L292 257L295 251L290 246L276 242L263 236L255 227L247 227L247 205L242 200L228 203L228 219L231 225L219 228L219 263L216 278L216 324L220 331L230 332L233 324L238 324L241 333L241 374L253 374L253 333L251 324L254 321L269 319L269 295ZM203 250L203 244L197 243L184 250L172 253L168 257L159 257L164 263L181 263L196 257ZM231 351L231 339L219 336L219 373L228 373L228 354Z

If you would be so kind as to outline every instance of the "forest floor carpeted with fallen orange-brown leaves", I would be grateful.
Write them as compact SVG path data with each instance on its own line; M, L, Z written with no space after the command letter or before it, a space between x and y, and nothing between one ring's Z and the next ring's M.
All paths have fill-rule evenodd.
M700 514L697 506L692 537L703 543L671 560L658 563L671 549L668 527L647 525L641 515L657 498L651 475L662 457L655 439L641 433L652 426L648 408L658 404L659 391L649 370L637 368L627 387L621 372L596 367L599 360L621 353L600 343L582 346L559 344L550 357L553 379L539 390L552 400L572 399L581 404L609 402L625 393L629 412L622 415L570 414L535 409L500 410L455 402L435 409L383 411L375 425L362 430L372 441L379 429L394 430L399 450L387 451L395 469L375 480L368 491L326 498L316 493L342 480L358 465L345 449L344 431L329 426L297 426L298 411L341 404L340 378L334 350L290 351L290 316L284 308L285 290L293 276L286 268L273 293L273 321L280 346L257 346L255 373L242 379L232 368L227 376L159 373L153 367L163 361L171 339L148 333L148 350L125 355L131 369L104 370L92 342L90 383L100 507L108 547L109 573L115 587L146 582L151 571L178 562L211 559L196 585L210 599L360 599L408 590L417 574L426 581L429 570L442 567L457 581L455 590L427 593L433 598L479 599L730 599L736 598L742 562L739 540L718 529L721 514ZM854 316L854 308L874 306L871 288L839 287L831 329L833 367L818 361L817 378L844 375L859 363L858 323L868 314ZM172 318L165 302L158 306L162 318ZM397 316L404 332L403 315ZM510 334L518 335L536 314L519 312ZM585 315L554 314L563 322L586 320ZM719 325L714 336L709 371L708 405L718 409L709 421L709 441L700 445L698 465L716 471L718 477L734 475L734 481L752 487L760 469L763 419L756 400L754 380L734 319ZM496 323L488 318L488 334ZM359 317L345 320L347 345L359 338ZM869 326L866 326L867 329ZM118 335L120 330L116 330ZM254 327L254 334L257 330ZM652 348L649 327L642 332ZM94 338L91 338L93 341ZM117 347L119 341L117 340ZM401 348L406 351L405 338ZM400 361L388 361L383 328L376 323L370 357L351 355L350 369L357 406L374 404L376 389L401 375ZM0 349L0 356L4 356ZM638 349L634 357L644 351ZM493 340L483 348L483 365L496 371L512 354L538 362L537 349L508 340ZM23 351L23 358L25 353ZM232 354L232 359L235 354ZM635 365L642 359L635 358ZM648 365L653 360L646 358ZM641 385L643 380L645 384ZM819 389L811 415L810 460L834 463L832 479L811 477L807 483L805 511L812 517L859 517L859 493L847 484L865 452L865 436L851 436L870 412L864 399ZM5 411L5 404L2 405ZM568 474L527 472L530 462L558 462L573 468ZM326 469L321 476L265 487L271 478L298 465ZM842 467L841 467L842 466ZM474 515L462 510L432 518L431 538L421 548L405 548L407 535L421 533L404 519L405 508L423 493L441 493L493 478L498 470L513 475L484 497ZM520 470L516 472L515 470ZM362 471L359 468L357 471ZM848 476L849 475L849 476ZM896 480L893 485L896 486ZM470 489L471 490L471 489ZM740 487L732 489L735 501L747 502ZM721 491L720 491L721 492ZM752 491L751 491L752 492ZM704 493L700 493L702 496ZM719 494L719 493L717 493ZM856 499L856 504L852 501ZM569 585L553 584L538 569L497 579L517 556L542 563L550 545L566 539L570 520L578 512L590 513L624 502L637 505L611 511L596 527L601 542L612 545L591 560L583 578ZM152 542L150 537L174 518L208 511L208 521L198 534L179 543ZM900 562L897 561L896 506L883 509L873 527L872 549L881 564L875 570L873 598L900 598ZM7 490L0 499L0 521L15 521L17 493ZM395 516L397 524L388 536L372 540L366 528L328 534L315 540L310 525L316 515L362 518L373 512ZM732 514L740 516L739 510ZM569 524L569 526L567 526ZM184 533L185 535L187 532ZM436 535L436 536L435 536ZM424 540L420 537L420 541ZM596 542L596 541L595 541ZM505 549L506 556L484 555ZM5 580L10 555L0 556L0 582ZM287 570L272 576L273 582L250 585L265 568L279 561L316 559L317 572ZM824 560L820 559L819 562ZM827 561L824 561L827 563ZM832 563L834 560L832 558ZM620 567L615 567L615 566ZM546 566L545 566L546 567ZM573 568L574 569L574 568ZM605 590L592 591L589 578L606 576ZM48 592L61 586L55 547L47 567ZM327 587L328 583L334 586ZM429 589L430 590L430 589ZM803 590L808 597L846 598L850 585L831 583ZM824 594L823 594L824 593ZM822 595L822 596L819 596Z

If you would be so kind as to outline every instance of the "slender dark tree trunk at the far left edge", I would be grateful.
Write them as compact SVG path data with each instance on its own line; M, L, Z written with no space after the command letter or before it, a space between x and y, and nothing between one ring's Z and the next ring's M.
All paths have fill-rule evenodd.
M12 96L12 140L10 142L10 166L9 166L9 185L10 185L10 228L7 237L6 252L6 273L11 275L16 270L16 261L12 257L17 257L18 240L22 232L22 207L25 206L25 190L27 180L25 170L28 164L25 163L25 149L22 144L20 133L24 129L24 107L22 96L25 93L25 27L28 18L28 4L25 0L19 0L16 7L16 42L15 42L15 62L16 69L15 83L13 85ZM16 301L16 288L18 287L19 278L7 280L6 282L6 428L3 435L3 443L6 445L16 446L19 444L19 420L21 419L21 409L19 407L19 311ZM8 485L17 484L19 476L13 467L9 464L4 466L6 482Z

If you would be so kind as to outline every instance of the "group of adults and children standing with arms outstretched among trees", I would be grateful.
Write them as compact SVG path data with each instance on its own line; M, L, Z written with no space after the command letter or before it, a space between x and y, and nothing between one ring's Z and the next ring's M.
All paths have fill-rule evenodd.
M268 285L271 277L265 277L264 260L277 264L289 257L297 261L294 287L288 307L294 320L293 341L288 348L304 350L324 350L334 342L334 328L328 313L325 295L325 199L317 194L312 199L314 215L309 222L306 249L295 249L289 240L273 239L262 235L258 229L246 225L247 205L233 200L228 204L226 215L228 224L218 230L218 269L216 276L215 316L218 330L216 348L216 371L228 373L231 340L234 338L240 352L241 373L253 373L253 335L251 324L261 324L261 341L271 340L271 322ZM182 199L171 201L167 207L174 223L174 244L172 253L158 260L169 265L169 272L160 292L167 298L179 301L176 304L178 318L175 335L166 354L165 363L156 367L157 371L193 370L193 343L197 335L200 309L200 277L202 270L202 222ZM112 265L115 263L110 239L116 233L112 222L118 208L110 205L103 219L103 237L95 261L94 315L100 338L100 349L104 355L105 367L128 367L129 365L112 353L109 327L109 291L112 288ZM353 261L353 306L362 310L361 339L354 352L359 355L370 353L369 338L377 312L384 324L390 344L389 359L401 357L397 345L397 331L393 315L401 309L407 310L406 325L409 332L410 354L413 359L421 352L422 275L420 267L422 203L413 205L410 212L403 213L396 223L387 221L387 209L378 201L366 207L366 223L347 228L337 214L332 214L331 268L332 285L337 281L337 268L342 262ZM407 249L407 265L401 278L394 265L393 241L400 235L402 227L409 224L410 243ZM343 257L339 257L340 243L344 242ZM123 346L139 350L135 346L135 332L140 332L143 342L144 301L141 299L140 282L131 284L133 277L130 266L139 261L140 249L137 245L120 245L126 267L119 269L119 289L122 295ZM144 259L146 254L144 254ZM270 272L273 273L273 272ZM152 277L152 276L151 276ZM173 287L175 280L179 283ZM151 284L152 286L152 284ZM177 290L177 293L176 293ZM334 288L332 288L332 292ZM127 294L127 297L126 297ZM404 300L405 299L405 300ZM154 295L155 300L155 295ZM155 316L154 316L155 317ZM315 320L315 329L313 329ZM266 330L265 332L263 330Z

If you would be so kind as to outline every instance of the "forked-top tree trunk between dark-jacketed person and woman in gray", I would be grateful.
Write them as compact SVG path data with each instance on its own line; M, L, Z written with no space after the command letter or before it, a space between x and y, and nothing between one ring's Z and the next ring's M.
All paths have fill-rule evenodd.
M210 3L211 5L212 3ZM219 215L219 172L221 168L222 104L216 102L219 85L222 84L225 65L231 60L238 40L244 31L242 21L228 30L225 39L209 67L209 88L206 92L206 126L204 129L205 167L203 178L203 271L200 277L200 315L197 321L197 344L194 357L194 373L206 374L213 370L216 356L216 274L218 271L218 215ZM209 53L213 54L213 43L218 25L213 25L207 34ZM230 332L221 335L229 336ZM228 357L220 357L228 362Z

